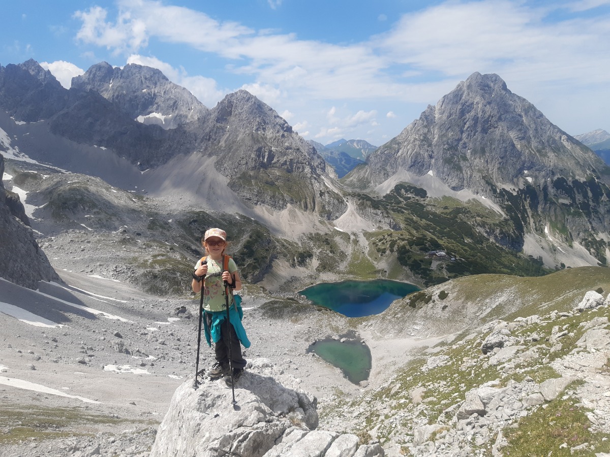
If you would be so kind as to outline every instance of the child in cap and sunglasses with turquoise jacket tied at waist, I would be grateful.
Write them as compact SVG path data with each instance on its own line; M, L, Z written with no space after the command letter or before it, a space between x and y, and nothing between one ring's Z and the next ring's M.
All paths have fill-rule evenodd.
M193 292L201 291L203 294L207 344L212 345L210 340L214 342L216 363L207 375L212 380L224 377L226 384L231 386L237 383L246 366L240 342L246 348L250 346L250 342L242 325L241 297L234 296L232 292L242 289L242 280L239 278L235 261L224 253L228 246L226 238L226 232L220 228L210 228L206 231L201 239L201 244L206 250L206 257L195 264L191 286ZM226 288L225 285L228 287ZM226 295L225 291L228 291L229 294ZM227 322L226 319L227 297L230 322ZM231 344L233 372L231 372L231 364L229 364L229 344Z

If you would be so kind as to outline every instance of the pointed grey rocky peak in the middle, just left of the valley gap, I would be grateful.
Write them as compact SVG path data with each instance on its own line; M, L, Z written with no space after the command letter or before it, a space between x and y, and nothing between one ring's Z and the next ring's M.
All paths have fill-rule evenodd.
M326 163L268 105L245 90L229 94L201 124L199 151L217 155L216 168L246 202L283 210L292 204L325 218L345 211L324 182Z

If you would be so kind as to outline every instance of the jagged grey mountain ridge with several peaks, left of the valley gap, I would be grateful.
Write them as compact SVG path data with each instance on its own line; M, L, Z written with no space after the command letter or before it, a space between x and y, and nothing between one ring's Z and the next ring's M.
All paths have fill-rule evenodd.
M294 205L324 219L345 210L339 194L325 183L333 172L328 174L323 158L274 110L246 91L229 94L208 110L158 70L140 65L118 69L105 63L91 67L65 90L29 60L0 67L0 107L17 122L45 121L44 127L35 127L38 135L46 130L54 141L59 137L75 143L72 155L81 156L77 165L74 157L66 157L66 144L57 152L28 145L28 153L37 160L54 163L57 155L61 166L72 171L86 170L120 182L96 166L95 157L79 151L78 144L87 144L109 149L97 153L104 160L115 154L115 161L125 158L142 172L153 168L167 175L181 173L184 177L177 181L193 193L203 177L195 181L192 171L205 163L220 171L221 180L229 179L229 188L245 205L264 204L274 210ZM161 117L151 117L156 110ZM154 125L155 118L163 117L170 119L163 127L172 128ZM30 127L10 129L29 132ZM15 135L15 144L21 135Z

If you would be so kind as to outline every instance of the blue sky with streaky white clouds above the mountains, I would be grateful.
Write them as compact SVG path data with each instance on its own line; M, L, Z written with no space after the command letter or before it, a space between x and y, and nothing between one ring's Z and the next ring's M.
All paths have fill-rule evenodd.
M610 131L610 0L117 0L0 5L0 65L65 87L91 65L159 68L212 108L246 89L307 140L380 146L470 74L571 135Z

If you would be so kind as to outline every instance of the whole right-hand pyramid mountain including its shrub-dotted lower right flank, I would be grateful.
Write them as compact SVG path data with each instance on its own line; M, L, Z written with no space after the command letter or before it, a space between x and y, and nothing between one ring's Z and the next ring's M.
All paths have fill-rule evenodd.
M577 241L606 263L608 167L495 74L459 83L367 161L345 182L378 186L431 175L451 191L498 204L522 239Z

